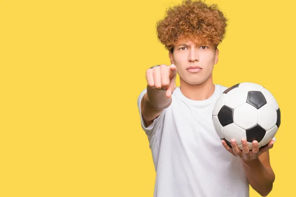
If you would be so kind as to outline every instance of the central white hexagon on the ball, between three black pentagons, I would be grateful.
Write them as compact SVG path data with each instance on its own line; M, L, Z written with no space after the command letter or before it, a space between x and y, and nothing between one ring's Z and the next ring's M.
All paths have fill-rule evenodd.
M250 129L257 124L258 109L249 103L244 103L234 109L233 122L242 129Z

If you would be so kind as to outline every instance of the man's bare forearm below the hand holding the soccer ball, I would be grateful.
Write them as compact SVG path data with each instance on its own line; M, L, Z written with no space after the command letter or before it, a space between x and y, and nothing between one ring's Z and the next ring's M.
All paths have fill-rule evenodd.
M259 158L242 162L251 187L261 196L267 196L273 187L275 179L272 168L264 166Z

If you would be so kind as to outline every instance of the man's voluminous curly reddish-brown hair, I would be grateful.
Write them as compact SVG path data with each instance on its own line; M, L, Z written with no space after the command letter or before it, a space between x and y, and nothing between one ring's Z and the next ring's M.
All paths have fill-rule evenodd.
M184 0L179 6L170 7L166 14L156 23L157 37L171 52L181 36L198 39L203 44L211 43L215 48L224 38L227 19L217 4Z

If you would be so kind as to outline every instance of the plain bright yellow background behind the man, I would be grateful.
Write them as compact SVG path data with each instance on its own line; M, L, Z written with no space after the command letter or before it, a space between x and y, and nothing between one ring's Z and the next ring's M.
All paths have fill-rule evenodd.
M146 69L169 64L155 23L179 2L0 1L0 197L152 197L137 98ZM293 196L296 3L209 2L229 18L214 82L255 82L275 96L269 196Z

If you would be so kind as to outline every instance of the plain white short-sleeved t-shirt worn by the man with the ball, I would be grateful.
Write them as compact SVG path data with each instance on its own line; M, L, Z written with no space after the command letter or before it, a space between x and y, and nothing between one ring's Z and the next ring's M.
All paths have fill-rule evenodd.
M215 85L206 100L186 98L177 87L172 104L148 127L156 171L154 197L249 197L249 183L239 158L222 146L212 122L217 99L227 87Z

